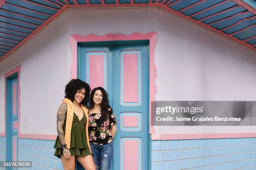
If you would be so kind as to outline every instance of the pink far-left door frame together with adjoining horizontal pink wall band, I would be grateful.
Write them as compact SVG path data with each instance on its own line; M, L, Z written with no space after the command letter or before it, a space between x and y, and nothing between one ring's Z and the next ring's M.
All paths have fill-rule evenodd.
M18 138L56 140L57 135L20 134L20 65L5 73L5 133L0 133L0 137L6 136L6 78L15 72L18 72Z

